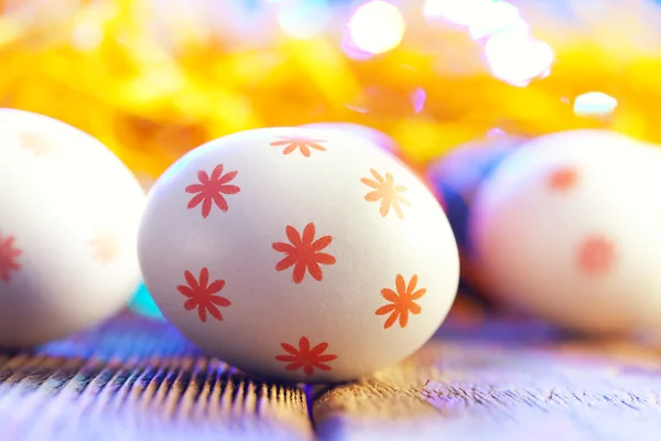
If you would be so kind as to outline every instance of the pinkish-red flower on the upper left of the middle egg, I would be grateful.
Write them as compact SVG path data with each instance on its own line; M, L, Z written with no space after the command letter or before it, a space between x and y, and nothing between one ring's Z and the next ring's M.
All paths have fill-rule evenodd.
M238 172L229 172L223 174L223 164L216 165L212 172L212 176L204 170L197 172L198 184L192 184L186 187L186 193L197 193L187 208L193 209L202 204L202 217L206 218L212 213L212 204L216 204L223 212L227 212L226 194L237 194L241 191L237 185L229 185L229 182L237 176Z

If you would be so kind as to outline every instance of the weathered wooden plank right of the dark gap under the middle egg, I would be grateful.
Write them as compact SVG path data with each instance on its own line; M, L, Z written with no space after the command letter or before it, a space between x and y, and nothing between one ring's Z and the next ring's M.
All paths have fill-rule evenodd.
M400 366L321 391L323 440L661 439L661 348L540 323L447 323Z

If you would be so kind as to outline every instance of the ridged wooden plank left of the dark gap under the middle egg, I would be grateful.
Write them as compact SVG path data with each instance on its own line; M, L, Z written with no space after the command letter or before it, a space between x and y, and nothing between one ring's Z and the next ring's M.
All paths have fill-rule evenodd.
M302 389L253 381L172 326L123 314L0 355L0 439L310 440Z

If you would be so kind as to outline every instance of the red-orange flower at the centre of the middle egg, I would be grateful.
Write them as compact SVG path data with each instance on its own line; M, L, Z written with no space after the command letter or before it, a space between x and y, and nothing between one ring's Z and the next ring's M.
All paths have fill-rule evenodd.
M278 262L275 270L283 271L293 266L294 272L292 279L294 283L303 281L306 270L313 279L321 281L323 275L319 263L335 263L335 257L326 252L319 252L330 245L333 237L323 236L315 240L315 227L313 223L305 226L303 235L299 234L296 228L291 225L286 226L285 232L291 245L282 241L273 244L275 251L286 254L286 257Z

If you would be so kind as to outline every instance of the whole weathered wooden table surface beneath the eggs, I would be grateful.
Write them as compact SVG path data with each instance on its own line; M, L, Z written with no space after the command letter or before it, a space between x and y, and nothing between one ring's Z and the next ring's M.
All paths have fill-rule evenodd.
M661 346L449 319L399 366L335 387L251 380L122 313L0 353L0 440L661 440Z

